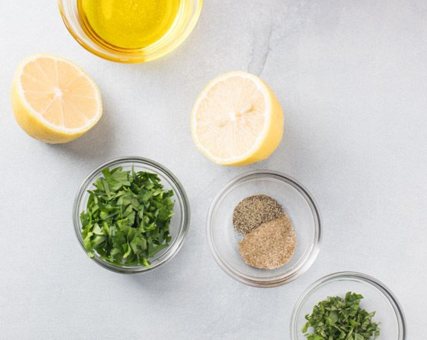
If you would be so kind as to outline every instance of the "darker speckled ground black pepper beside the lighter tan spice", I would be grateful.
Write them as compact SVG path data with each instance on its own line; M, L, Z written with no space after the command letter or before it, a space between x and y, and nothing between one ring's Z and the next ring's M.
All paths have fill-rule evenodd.
M233 212L233 225L240 233L248 234L262 223L284 216L282 206L267 195L254 195L244 198Z

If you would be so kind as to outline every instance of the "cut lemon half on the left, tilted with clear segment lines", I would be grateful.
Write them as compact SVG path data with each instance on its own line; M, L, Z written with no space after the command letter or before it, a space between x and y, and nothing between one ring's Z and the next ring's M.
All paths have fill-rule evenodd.
M35 54L20 63L11 101L20 127L47 143L82 136L102 115L94 80L73 62L47 54Z

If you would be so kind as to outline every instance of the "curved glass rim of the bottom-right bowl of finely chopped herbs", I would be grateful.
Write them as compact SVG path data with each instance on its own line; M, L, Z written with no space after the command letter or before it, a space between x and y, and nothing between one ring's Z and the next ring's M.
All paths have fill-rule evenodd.
M310 286L308 286L304 290L304 292L301 294L301 296L298 298L297 302L295 303L295 307L292 311L291 322L290 322L290 336L292 340L298 339L297 332L301 331L297 329L297 318L298 316L300 316L301 307L304 304L304 302L307 300L307 298L311 295L311 293L313 293L316 290L316 288L340 279L347 279L351 281L354 281L354 280L363 281L366 284L369 284L370 286L376 288L379 293L385 296L386 299L392 305L397 322L398 322L399 334L398 334L397 340L406 340L407 331L406 331L405 315L400 303L398 302L398 299L395 297L392 291L381 281L377 280L376 278L370 275L366 275L360 272L336 272L336 273L326 275L322 278L319 278L318 280L310 284Z

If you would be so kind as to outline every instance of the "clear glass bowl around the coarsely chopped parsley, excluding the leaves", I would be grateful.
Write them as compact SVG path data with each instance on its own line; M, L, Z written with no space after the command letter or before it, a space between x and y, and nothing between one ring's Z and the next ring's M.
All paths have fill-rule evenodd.
M155 254L154 257L150 258L150 268L145 266L118 266L116 264L110 263L106 260L101 259L95 253L93 260L98 263L100 266L110 269L114 272L120 273L141 273L148 272L152 269L155 269L162 264L166 263L172 257L174 257L184 242L184 237L187 234L188 227L190 225L190 205L188 203L187 195L184 191L179 180L174 176L174 174L166 169L159 163L156 163L152 160L143 157L120 157L114 160L110 160L97 167L94 171L89 174L88 177L83 181L82 185L77 192L76 199L74 201L73 208L73 222L74 222L74 231L76 232L77 239L79 240L80 245L83 250L86 252L83 247L83 237L82 237L82 223L80 222L80 213L86 210L86 205L88 203L88 190L93 187L93 183L97 178L102 176L102 169L105 168L115 168L121 166L123 170L132 170L132 166L135 171L149 171L158 174L161 179L161 184L164 186L165 190L173 189L175 195L172 196L172 200L175 201L175 206L173 212L175 213L172 216L170 223L170 234L172 240L170 241L169 247L165 248L163 251Z

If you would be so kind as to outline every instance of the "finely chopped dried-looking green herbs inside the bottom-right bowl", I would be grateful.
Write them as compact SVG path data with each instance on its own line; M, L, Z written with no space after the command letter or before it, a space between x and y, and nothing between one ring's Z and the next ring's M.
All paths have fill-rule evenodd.
M363 296L348 292L345 299L328 297L313 307L306 315L307 323L302 328L308 340L370 340L380 335L378 323L372 322L375 312L360 308ZM313 332L307 333L312 327Z

